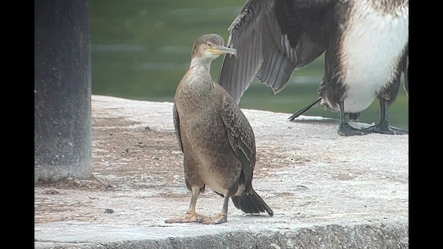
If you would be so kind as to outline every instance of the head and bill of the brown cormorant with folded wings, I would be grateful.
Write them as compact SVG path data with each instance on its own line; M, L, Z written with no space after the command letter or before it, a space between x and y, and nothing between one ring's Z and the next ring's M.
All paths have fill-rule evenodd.
M224 39L220 35L202 35L195 40L192 47L192 64L209 64L219 55L226 53L237 54L235 48L224 46Z

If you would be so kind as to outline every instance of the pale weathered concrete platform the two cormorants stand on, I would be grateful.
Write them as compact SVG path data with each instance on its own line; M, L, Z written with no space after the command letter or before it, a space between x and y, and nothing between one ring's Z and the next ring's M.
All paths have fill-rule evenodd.
M342 137L338 120L244 113L257 142L253 186L273 217L245 215L230 203L227 223L164 223L185 214L190 201L178 147L157 151L148 142L143 153L166 156L118 175L130 163L97 160L108 154L98 131L115 128L97 120L127 122L120 125L127 136L150 127L162 136L159 145L172 143L172 103L93 95L93 174L114 190L36 185L35 248L408 248L408 136ZM217 214L222 203L208 190L197 212Z

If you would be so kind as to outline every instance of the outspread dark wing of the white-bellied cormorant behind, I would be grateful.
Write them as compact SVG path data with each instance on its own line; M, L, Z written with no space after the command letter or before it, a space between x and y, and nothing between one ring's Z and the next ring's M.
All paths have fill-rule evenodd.
M338 0L249 0L228 28L228 46L219 84L239 103L253 77L274 93L327 48L327 24Z

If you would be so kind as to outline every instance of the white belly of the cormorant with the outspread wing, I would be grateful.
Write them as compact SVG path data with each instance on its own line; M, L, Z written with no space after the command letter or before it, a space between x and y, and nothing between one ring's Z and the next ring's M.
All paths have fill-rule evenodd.
M344 31L341 62L347 86L345 112L368 108L377 93L395 77L401 53L408 42L408 8L396 15L379 15L366 1L355 1L355 17Z

